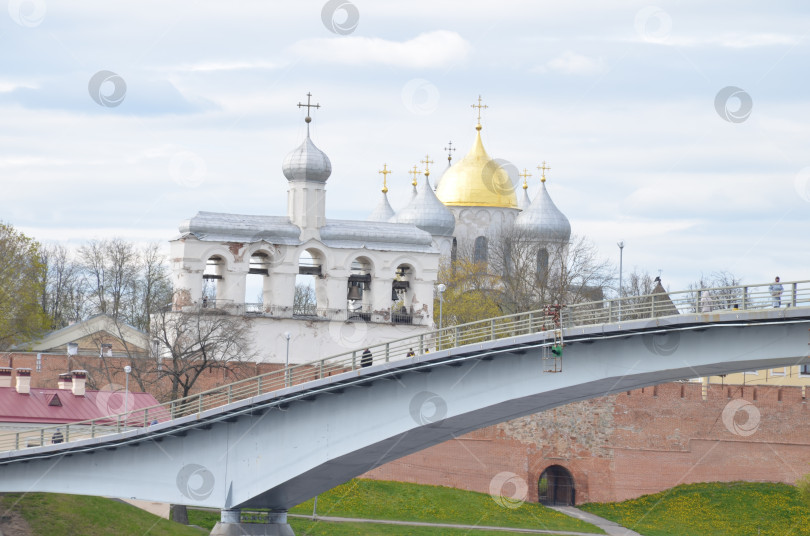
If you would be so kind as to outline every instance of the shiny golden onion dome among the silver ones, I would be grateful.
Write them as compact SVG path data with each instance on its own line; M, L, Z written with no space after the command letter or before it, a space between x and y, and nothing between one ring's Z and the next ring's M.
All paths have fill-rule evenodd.
M518 208L512 180L484 150L480 126L476 130L472 149L444 172L436 196L448 206Z

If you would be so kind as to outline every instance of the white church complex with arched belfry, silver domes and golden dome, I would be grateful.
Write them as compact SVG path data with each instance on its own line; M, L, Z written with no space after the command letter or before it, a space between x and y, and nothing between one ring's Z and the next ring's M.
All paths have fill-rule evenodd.
M304 363L435 329L433 300L442 257L469 244L486 261L493 231L515 225L540 242L565 245L568 219L546 190L518 200L506 170L481 141L481 104L470 151L449 165L434 192L429 158L425 180L399 212L382 197L365 221L326 218L329 157L307 134L284 158L287 215L199 212L171 241L173 306L214 308L251 317L260 359ZM448 162L450 158L448 157ZM541 169L547 169L541 168ZM279 183L279 187L281 183ZM296 278L314 284L314 301L296 300ZM248 277L260 278L261 298L246 299ZM300 280L299 280L300 281ZM209 289L204 291L204 287Z

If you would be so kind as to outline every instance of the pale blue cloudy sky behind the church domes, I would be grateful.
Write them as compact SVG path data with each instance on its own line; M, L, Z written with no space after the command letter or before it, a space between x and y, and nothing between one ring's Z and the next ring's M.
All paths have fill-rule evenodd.
M64 2L0 10L0 220L45 243L168 246L197 211L286 214L285 155L332 161L327 217L448 142L526 168L600 258L680 290L810 279L810 5ZM437 176L434 171L433 177Z

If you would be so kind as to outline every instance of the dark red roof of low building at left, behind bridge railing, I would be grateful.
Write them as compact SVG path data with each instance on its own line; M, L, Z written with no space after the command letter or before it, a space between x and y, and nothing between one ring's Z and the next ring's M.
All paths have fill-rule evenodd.
M54 401L55 396L59 398L58 403ZM132 413L133 410L158 405L158 401L149 393L130 391L128 398L126 405L131 415L130 425L137 425L132 421L143 423L144 420L143 413ZM0 387L0 422L66 424L123 412L123 391L86 391L84 396L76 396L69 389L32 387L29 394L23 395L13 387ZM168 417L164 408L157 408L149 411L147 420L162 422Z

